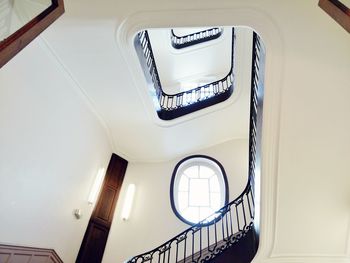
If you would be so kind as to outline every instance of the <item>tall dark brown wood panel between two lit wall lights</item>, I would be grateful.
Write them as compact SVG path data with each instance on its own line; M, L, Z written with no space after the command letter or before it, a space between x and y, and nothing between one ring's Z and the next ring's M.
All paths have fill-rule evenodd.
M101 192L80 246L77 263L102 261L127 165L126 160L112 154Z

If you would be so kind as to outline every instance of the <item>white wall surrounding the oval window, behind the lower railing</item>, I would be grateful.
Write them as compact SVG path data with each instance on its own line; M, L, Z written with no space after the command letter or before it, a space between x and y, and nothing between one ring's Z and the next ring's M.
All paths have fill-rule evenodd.
M246 186L248 141L232 140L195 152L217 159L225 168L229 182L229 200ZM104 263L124 260L147 252L189 226L180 221L170 206L170 180L175 165L186 156L162 163L129 163L119 203L103 258ZM128 221L120 213L129 183L136 184L134 206Z

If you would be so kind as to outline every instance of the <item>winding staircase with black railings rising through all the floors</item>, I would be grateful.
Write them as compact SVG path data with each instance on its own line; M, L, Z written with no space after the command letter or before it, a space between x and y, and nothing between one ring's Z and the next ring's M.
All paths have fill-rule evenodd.
M201 31L185 36L185 39L182 40L175 39L172 34L172 40L175 41L174 43L185 43L189 46L191 39L197 44L200 37L202 41L209 41L207 39L209 36L213 37L215 32L220 33L217 28L210 30L207 33ZM135 47L146 79L154 88L154 101L160 118L172 119L183 116L229 97L234 89L234 28L232 28L232 36L232 67L226 78L187 92L168 95L162 90L147 31L138 34ZM260 141L265 51L260 37L255 32L252 43L249 175L244 191L213 215L160 246L129 259L127 263L248 263L255 256L259 244ZM186 96L192 99L187 100Z

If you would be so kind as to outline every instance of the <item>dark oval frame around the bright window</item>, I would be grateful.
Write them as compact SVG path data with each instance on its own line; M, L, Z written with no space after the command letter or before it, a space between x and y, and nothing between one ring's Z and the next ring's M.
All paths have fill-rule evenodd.
M201 158L201 159L206 159L206 160L204 160L204 161L206 161L206 162L208 162L209 164L212 162L212 163L214 163L215 165L217 165L218 166L218 170L221 172L221 175L222 175L222 181L223 181L223 190L225 191L225 193L223 194L223 196L224 196L224 205L223 206L225 206L225 205L227 205L228 204L228 200L229 200L229 187L228 187L228 180L227 180L227 176L226 176L226 172L225 172L225 169L224 169L224 167L223 167L223 165L218 161L218 160L216 160L216 159L214 159L213 157L210 157L210 156L207 156L207 155L199 155L199 154L197 154L197 155L191 155L191 156L188 156L188 157L186 157L186 158L184 158L184 159L182 159L181 161L179 161L177 164L176 164L176 166L175 166L175 168L174 168L174 170L173 170L173 174L172 174L172 177L171 177L171 182L170 182L170 204L171 204L171 208L172 208L172 210L173 210L173 212L174 212L174 214L182 221L182 222L184 222L184 223L186 223L186 224L188 224L188 225L191 225L191 226L193 226L193 225L196 225L196 224L198 224L198 223L193 223L193 222L191 222L191 221L189 221L189 220L187 220L186 218L184 218L181 214L180 214L180 212L178 211L178 209L177 209L177 207L176 207L176 205L175 205L175 200L174 200L174 183L175 183L175 179L176 179L176 177L177 177L177 175L178 175L178 170L179 170L179 168L182 166L182 165L184 165L186 162L189 162L191 159L195 159L195 158ZM188 167L190 167L190 166L188 166ZM217 170L217 169L215 169L215 170ZM218 177L219 177L220 175L218 175ZM221 208L221 207L220 207ZM218 217L216 217L216 218L214 218L212 221L210 221L210 222L208 222L208 223L205 223L205 224L202 224L202 225L210 225L210 224L212 224L212 223L214 223L214 222L216 222L216 219L217 219Z

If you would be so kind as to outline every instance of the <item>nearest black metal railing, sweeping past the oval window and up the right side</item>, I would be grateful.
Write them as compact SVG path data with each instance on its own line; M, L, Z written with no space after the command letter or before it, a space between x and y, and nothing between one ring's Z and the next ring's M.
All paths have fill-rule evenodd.
M219 211L186 229L159 247L135 256L127 263L199 263L208 262L254 228L255 176L260 169L261 114L264 51L254 33L249 131L249 177L241 195ZM259 186L258 186L259 187ZM254 250L256 253L256 249ZM254 255L253 255L254 256Z

